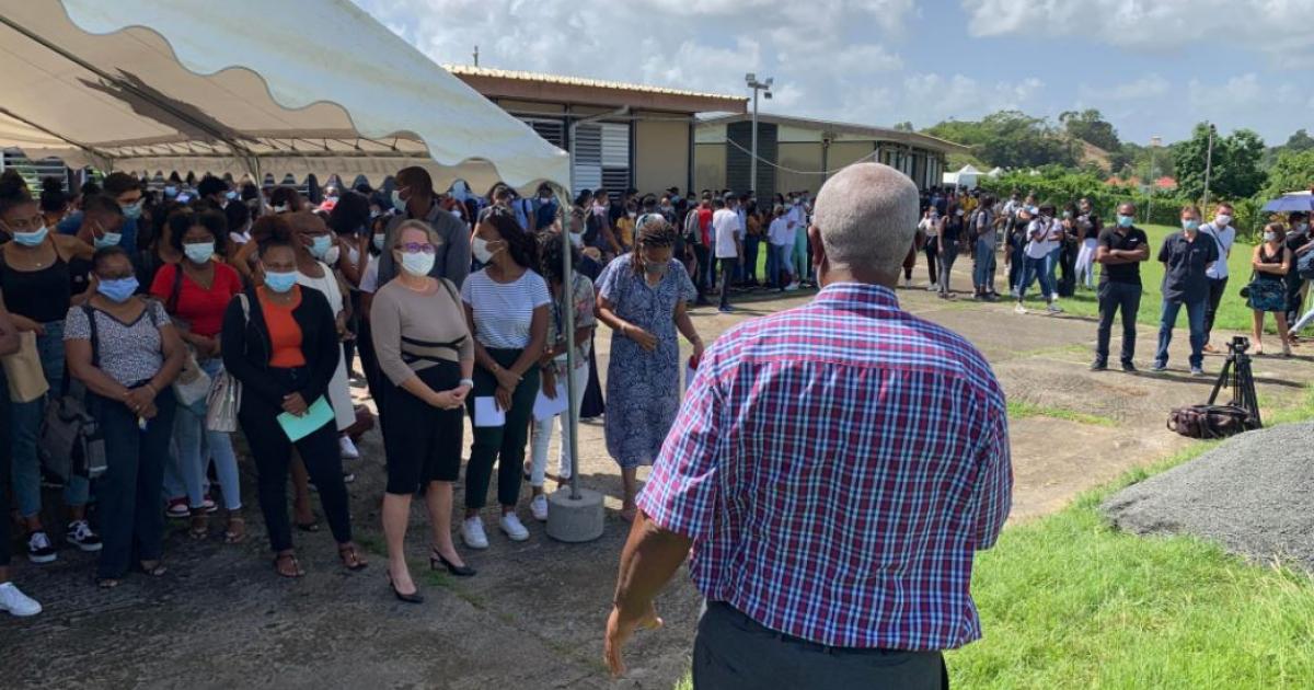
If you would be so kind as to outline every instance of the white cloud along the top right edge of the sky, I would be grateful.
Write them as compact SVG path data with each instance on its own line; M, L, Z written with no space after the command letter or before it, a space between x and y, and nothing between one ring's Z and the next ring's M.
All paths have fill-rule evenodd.
M974 35L1075 35L1147 53L1217 42L1314 64L1310 0L962 0Z

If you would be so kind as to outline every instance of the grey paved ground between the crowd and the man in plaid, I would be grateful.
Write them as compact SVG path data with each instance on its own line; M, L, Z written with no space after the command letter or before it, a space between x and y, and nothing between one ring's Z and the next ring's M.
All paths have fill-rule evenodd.
M711 340L745 318L808 298L766 297L742 302L733 315L700 309L695 323ZM1180 447L1183 440L1164 428L1168 409L1202 402L1209 393L1212 380L1185 375L1184 333L1169 375L1096 375L1087 371L1095 339L1088 319L945 302L925 289L900 290L900 297L907 309L976 343L1022 413L1012 425L1014 520L1058 510L1076 493ZM607 334L598 339L603 368L608 342ZM1143 367L1152 343L1154 334L1142 329ZM1212 373L1221 364L1221 357L1206 360ZM1309 359L1256 360L1261 400L1290 403L1302 394L1307 372ZM610 497L604 536L558 544L535 523L530 541L512 544L495 531L490 511L491 548L477 555L463 549L480 576L457 582L427 572L426 527L417 511L409 551L428 598L423 606L397 602L385 582L377 436L363 444L365 459L352 464L359 480L350 486L360 541L372 552L363 573L343 572L325 530L296 535L304 580L276 577L255 505L254 469L243 461L247 544L189 541L177 526L166 547L171 572L160 580L130 577L113 591L95 589L92 557L70 549L49 566L16 561L16 580L46 612L0 618L0 686L668 689L689 666L698 595L679 577L658 602L668 628L640 635L629 649L629 677L608 679L602 630L627 524L616 514L619 473L606 455L600 425L586 425L581 436L581 477ZM50 501L57 505L58 498ZM532 522L527 509L522 517ZM221 527L222 515L214 531Z

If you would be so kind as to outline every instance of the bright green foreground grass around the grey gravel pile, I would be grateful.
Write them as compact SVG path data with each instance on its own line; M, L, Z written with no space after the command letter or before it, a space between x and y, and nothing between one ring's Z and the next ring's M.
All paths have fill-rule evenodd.
M1269 425L1311 418L1314 392ZM1196 443L1004 530L976 556L984 639L947 655L954 686L1314 687L1314 578L1190 536L1120 532L1099 511L1109 494L1215 444ZM690 679L675 687L690 690Z

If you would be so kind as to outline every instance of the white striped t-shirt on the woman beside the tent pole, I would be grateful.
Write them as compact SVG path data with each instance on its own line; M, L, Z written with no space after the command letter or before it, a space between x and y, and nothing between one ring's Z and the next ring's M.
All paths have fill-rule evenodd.
M526 271L514 283L498 283L487 269L470 273L461 285L461 301L474 313L474 338L494 350L522 350L530 344L533 310L552 302L543 276Z

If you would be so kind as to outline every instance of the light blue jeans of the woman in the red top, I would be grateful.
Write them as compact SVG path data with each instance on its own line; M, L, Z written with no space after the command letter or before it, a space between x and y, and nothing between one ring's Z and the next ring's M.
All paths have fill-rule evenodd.
M201 369L213 380L223 371L223 361L200 361ZM209 490L206 469L214 461L214 473L223 489L223 507L242 507L242 486L238 478L238 459L233 452L233 439L222 431L205 430L205 398L192 406L177 405L173 418L173 461L166 471L166 489L170 498L187 495L188 506L201 507Z

